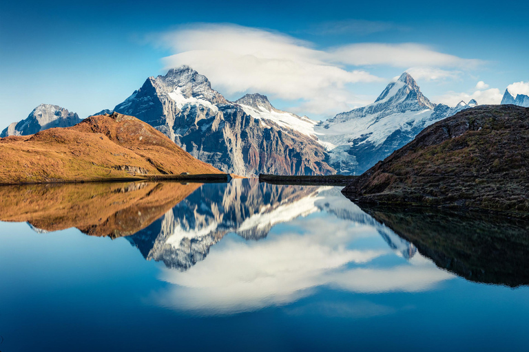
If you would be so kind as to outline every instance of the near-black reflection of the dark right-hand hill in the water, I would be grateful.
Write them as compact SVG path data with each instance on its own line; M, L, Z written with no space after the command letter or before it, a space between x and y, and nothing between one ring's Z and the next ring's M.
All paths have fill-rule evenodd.
M529 285L529 222L490 214L362 206L438 267L478 283Z

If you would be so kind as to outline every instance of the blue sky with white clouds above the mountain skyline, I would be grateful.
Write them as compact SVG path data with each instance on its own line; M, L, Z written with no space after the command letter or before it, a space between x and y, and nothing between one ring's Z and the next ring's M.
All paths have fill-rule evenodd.
M409 70L434 102L529 89L526 1L2 1L0 129L41 103L81 118L191 65L229 99L326 118ZM480 83L481 82L481 83ZM499 102L499 101L497 101Z

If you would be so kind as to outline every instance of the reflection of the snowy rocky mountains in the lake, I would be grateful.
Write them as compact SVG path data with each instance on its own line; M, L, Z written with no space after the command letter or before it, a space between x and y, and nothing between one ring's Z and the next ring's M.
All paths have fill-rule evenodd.
M340 188L280 186L257 179L205 185L161 219L126 239L145 259L163 261L167 267L185 271L205 260L209 249L228 233L258 241L274 225L321 210L340 219L372 225L395 252L406 258L415 254L413 245L343 197Z

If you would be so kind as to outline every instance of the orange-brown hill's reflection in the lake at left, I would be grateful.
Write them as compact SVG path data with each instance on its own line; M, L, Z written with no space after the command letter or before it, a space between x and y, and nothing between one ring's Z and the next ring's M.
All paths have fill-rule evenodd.
M127 236L147 227L200 184L127 182L0 187L0 220L48 231L79 228L92 236Z

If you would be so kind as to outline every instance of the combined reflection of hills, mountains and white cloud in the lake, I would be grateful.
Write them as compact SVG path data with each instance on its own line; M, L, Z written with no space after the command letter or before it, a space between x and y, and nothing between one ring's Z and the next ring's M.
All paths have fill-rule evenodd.
M1 187L0 196L1 221L27 221L38 232L75 227L93 236L125 236L145 259L165 264L160 278L168 285L151 299L201 314L284 305L317 287L419 292L453 274L529 283L527 223L364 212L338 187L234 179L10 186ZM366 244L373 236L387 245Z

